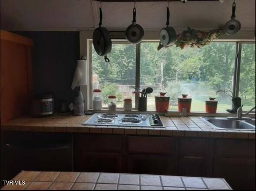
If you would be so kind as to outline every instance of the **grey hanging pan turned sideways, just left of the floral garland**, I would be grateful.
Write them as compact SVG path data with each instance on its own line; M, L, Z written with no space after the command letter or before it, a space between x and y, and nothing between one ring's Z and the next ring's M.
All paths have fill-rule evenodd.
M170 11L169 11L169 7L166 7L166 8L167 8L166 28L163 28L160 30L160 43L163 46L170 46L175 43L177 36L173 27L169 26Z

